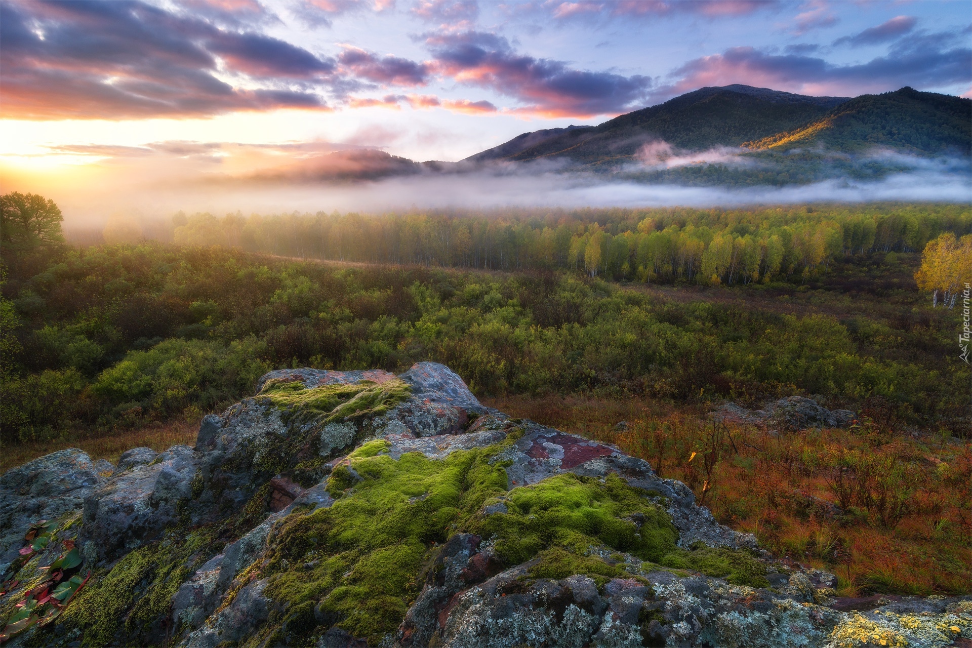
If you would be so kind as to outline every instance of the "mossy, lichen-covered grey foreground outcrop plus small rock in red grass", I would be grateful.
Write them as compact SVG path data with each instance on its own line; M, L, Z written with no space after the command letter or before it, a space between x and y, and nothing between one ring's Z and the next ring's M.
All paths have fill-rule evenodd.
M442 365L280 370L258 387L205 417L194 448L117 466L65 450L0 477L11 645L972 638L972 597L842 607L831 574L775 561L647 462L484 407ZM77 593L46 597L52 573Z

